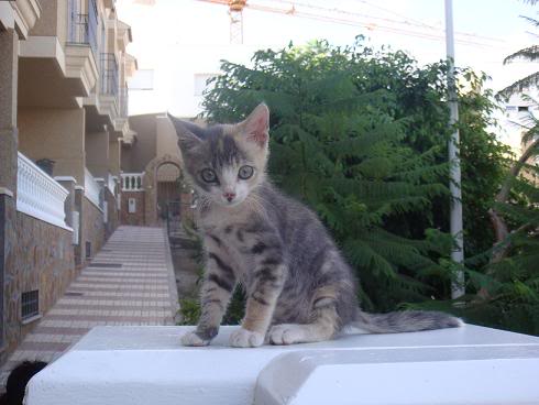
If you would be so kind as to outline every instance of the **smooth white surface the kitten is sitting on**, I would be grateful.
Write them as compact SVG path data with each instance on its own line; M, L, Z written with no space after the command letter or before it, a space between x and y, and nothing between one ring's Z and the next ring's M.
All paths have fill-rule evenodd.
M97 327L32 379L26 405L537 404L539 338L465 326L208 348L191 327ZM488 384L488 385L487 385Z

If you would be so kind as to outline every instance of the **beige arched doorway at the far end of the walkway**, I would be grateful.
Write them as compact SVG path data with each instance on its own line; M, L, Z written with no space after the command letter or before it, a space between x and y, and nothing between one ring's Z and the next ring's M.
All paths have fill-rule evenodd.
M164 155L150 162L144 175L145 222L147 226L163 225L172 215L176 219L191 204L190 188L184 183L178 157Z

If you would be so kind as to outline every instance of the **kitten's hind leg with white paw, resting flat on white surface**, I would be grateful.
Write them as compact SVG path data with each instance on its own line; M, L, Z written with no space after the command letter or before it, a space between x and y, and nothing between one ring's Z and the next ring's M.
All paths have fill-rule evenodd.
M339 329L339 316L333 304L315 308L309 324L275 325L267 332L272 344L310 343L331 340Z

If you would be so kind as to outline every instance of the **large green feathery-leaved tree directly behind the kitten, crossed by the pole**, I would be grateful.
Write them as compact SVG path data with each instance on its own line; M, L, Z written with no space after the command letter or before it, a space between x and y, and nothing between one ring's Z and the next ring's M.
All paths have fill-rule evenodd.
M260 51L252 62L222 63L205 116L237 122L260 101L270 106L271 177L319 214L358 271L364 308L447 299L446 64L419 67L361 40ZM477 253L492 243L486 210L506 150L486 130L485 77L459 76L466 249Z

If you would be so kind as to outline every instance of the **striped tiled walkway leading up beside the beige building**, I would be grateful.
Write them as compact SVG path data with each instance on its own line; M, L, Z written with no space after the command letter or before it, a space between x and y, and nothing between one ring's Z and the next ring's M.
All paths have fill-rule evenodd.
M174 270L161 228L119 227L103 249L40 320L0 375L22 360L51 362L98 325L173 325Z

